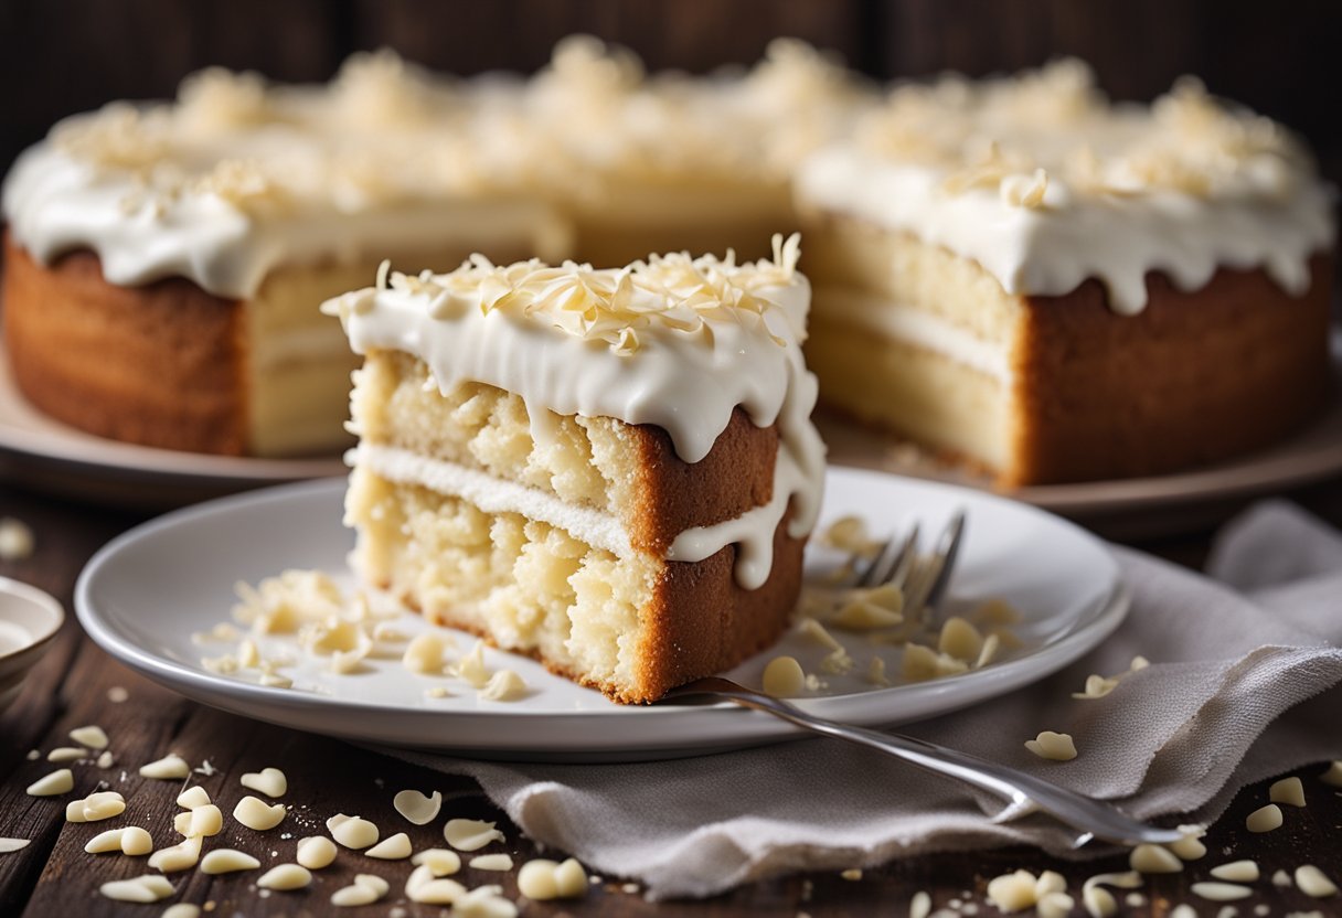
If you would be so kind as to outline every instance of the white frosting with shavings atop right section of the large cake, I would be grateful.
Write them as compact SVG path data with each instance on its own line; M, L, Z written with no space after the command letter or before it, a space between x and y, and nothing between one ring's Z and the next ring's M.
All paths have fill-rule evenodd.
M1189 291L1219 267L1263 268L1302 294L1334 238L1330 191L1279 126L1193 83L1110 105L1075 62L896 90L794 192L974 259L1011 294L1098 278L1122 314L1145 306L1150 271Z

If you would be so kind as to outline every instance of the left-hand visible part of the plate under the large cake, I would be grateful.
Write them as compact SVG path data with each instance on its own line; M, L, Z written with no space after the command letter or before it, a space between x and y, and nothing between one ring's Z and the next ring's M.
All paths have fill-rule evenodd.
M3 344L3 342L0 342ZM0 459L16 476L82 497L138 506L181 505L201 497L348 471L338 456L252 459L156 450L86 434L48 417L19 392L0 346Z

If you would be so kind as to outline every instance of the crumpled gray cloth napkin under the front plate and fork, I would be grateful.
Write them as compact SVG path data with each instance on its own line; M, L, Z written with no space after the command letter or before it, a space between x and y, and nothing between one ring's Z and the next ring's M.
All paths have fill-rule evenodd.
M1235 792L1342 757L1342 537L1261 503L1227 526L1202 577L1118 548L1125 624L1075 666L905 731L1008 762L1142 819L1215 820ZM1151 666L1107 697L1086 676ZM1075 737L1049 762L1023 742ZM1025 843L1071 852L1047 817L1001 819L996 797L831 740L674 762L541 765L393 753L470 774L533 839L654 898L705 897L793 870L841 870L931 851Z

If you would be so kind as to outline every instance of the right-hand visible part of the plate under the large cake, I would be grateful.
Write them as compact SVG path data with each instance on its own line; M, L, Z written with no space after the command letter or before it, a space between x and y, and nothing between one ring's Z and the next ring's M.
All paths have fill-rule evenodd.
M1017 501L1086 522L1115 538L1145 538L1216 522L1232 502L1307 484L1342 472L1342 332L1333 334L1334 392L1323 416L1296 436L1229 462L1172 475L1076 484L1035 484L1005 491ZM835 462L985 491L982 475L949 467L895 438L852 421L817 419ZM1197 513L1201 505L1209 513Z

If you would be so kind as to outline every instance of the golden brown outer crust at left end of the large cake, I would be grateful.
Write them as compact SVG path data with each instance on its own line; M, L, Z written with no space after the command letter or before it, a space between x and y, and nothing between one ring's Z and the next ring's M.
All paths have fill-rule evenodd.
M4 240L4 327L34 405L90 434L168 450L247 450L244 311L183 278L119 287L90 251L50 267Z

